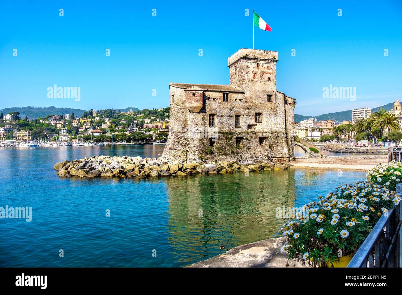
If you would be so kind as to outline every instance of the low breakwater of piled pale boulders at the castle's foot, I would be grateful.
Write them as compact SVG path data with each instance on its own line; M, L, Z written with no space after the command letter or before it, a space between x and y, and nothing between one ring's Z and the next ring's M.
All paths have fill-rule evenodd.
M257 162L180 162L168 161L163 158L142 159L141 157L109 157L92 156L90 158L63 161L56 163L53 168L60 177L161 177L186 176L193 174L217 174L235 172L253 172L261 170L287 169L289 164Z

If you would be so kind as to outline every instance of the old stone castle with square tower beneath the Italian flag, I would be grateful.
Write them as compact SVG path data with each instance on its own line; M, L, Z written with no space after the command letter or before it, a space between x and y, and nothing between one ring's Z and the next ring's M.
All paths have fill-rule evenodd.
M276 89L277 51L242 48L229 85L169 83L170 132L162 157L273 161L294 157L295 99Z

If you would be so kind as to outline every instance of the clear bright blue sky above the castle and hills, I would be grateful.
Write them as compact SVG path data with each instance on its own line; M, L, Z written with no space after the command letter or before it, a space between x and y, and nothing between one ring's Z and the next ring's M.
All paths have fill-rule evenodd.
M0 109L160 108L169 105L169 82L228 84L227 58L252 48L247 8L272 28L254 27L255 48L279 51L277 89L296 98L295 113L316 116L402 99L402 1L248 3L3 0ZM81 87L80 101L48 98L54 84ZM323 98L330 84L356 87L356 100Z

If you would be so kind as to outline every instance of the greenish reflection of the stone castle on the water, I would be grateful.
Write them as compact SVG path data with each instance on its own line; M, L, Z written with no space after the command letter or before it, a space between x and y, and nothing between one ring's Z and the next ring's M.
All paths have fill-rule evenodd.
M169 222L172 254L183 265L233 248L277 236L282 220L276 208L293 207L294 171L170 177Z

